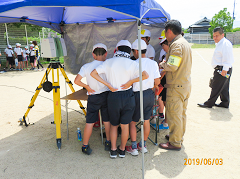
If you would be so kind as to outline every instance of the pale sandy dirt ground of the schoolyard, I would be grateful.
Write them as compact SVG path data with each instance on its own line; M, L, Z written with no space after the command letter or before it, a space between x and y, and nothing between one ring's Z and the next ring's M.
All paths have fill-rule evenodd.
M208 83L213 73L210 66L213 51L193 49L192 93L182 150L166 151L148 140L149 152L144 155L145 178L240 177L239 49L234 49L230 108L197 107L197 103L206 101L210 94ZM54 120L52 92L42 90L38 95L27 118L27 122L34 125L19 125L18 120L26 112L44 72L11 71L0 74L0 178L142 178L142 154L137 157L126 154L124 159L110 159L101 144L99 128L94 129L89 142L92 154L87 156L81 152L82 142L77 140L76 130L80 127L83 132L85 118L79 113L81 110L76 101L69 101L68 105L69 140L65 101L61 101L61 150L56 145L55 125L51 124ZM67 75L73 82L75 75ZM62 74L60 83L63 97L66 88ZM74 88L80 89L76 85ZM71 93L68 87L67 93ZM83 105L86 106L86 102ZM164 136L167 133L168 130L158 133L158 143L166 142ZM154 139L154 135L151 130L150 137Z

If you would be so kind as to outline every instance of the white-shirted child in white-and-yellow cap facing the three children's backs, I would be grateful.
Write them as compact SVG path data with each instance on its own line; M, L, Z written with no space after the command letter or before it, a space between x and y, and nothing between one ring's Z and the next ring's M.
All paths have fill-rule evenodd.
M141 39L144 40L147 44L147 52L146 52L146 57L150 58L151 60L154 60L155 58L155 50L152 47L152 45L149 44L151 38L151 32L147 29L142 29L141 30Z

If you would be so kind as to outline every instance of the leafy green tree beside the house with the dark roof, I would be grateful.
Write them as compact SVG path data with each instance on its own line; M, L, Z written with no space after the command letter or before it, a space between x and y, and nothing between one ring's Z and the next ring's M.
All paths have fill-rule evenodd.
M219 11L218 14L215 14L210 22L211 27L208 29L211 37L213 37L213 29L216 27L222 27L224 32L232 32L233 18L230 16L230 13L227 12L227 8ZM226 33L225 33L226 36Z

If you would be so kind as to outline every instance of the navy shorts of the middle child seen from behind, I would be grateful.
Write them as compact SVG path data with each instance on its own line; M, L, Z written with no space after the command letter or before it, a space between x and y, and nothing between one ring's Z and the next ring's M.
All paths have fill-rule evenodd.
M108 113L113 126L129 124L135 109L135 98L132 88L126 91L109 92Z

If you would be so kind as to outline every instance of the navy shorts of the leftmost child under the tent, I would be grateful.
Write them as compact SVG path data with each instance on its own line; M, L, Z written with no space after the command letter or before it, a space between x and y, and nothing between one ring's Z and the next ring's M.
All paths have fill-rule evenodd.
M100 94L88 95L86 123L98 121L99 109L101 110L102 121L109 121L107 108L108 91Z

